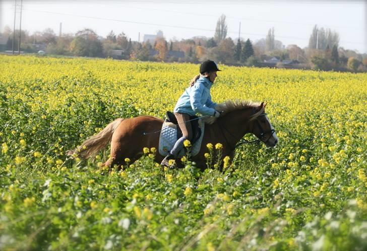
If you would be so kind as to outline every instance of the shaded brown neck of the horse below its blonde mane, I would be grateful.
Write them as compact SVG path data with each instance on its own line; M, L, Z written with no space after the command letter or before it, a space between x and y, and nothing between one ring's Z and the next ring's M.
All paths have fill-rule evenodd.
M235 145L245 134L252 131L252 122L249 122L252 114L252 108L246 108L231 111L220 118L219 127L225 128L223 133L229 143Z

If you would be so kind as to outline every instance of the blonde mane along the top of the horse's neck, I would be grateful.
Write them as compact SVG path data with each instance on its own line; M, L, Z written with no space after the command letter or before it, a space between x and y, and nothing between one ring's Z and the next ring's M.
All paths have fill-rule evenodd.
M259 108L260 105L261 103L259 102L253 102L253 101L248 101L248 100L234 100L234 101L227 100L227 101L224 101L223 103L217 104L215 106L215 109L217 111L223 111L222 115L225 115L226 113L234 111L234 110L242 110L242 109L247 109L247 108ZM254 115L250 116L249 121L254 120L263 112L264 112L264 106ZM212 116L204 117L202 119L203 122L208 123L208 124L214 123L215 120L216 120L216 117L212 117Z

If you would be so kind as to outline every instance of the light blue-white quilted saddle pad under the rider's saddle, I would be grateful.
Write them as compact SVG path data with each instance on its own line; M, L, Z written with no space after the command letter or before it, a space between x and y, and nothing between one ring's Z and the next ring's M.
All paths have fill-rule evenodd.
M191 156L195 156L199 153L201 142L204 137L204 122L199 120L199 127L201 128L200 138L194 143L191 147ZM174 146L174 143L177 141L177 125L171 122L164 122L162 125L162 130L159 136L159 154L162 156L166 156L169 151ZM182 149L177 157L182 157L185 155L185 148Z

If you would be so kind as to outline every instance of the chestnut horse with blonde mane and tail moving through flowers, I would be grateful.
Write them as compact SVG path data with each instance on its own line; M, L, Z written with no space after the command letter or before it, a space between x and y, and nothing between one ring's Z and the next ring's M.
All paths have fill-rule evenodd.
M202 146L199 153L192 157L198 167L206 168L204 154L208 152L208 143L221 143L222 156L234 156L236 144L248 133L254 134L259 141L268 147L274 147L278 138L270 120L265 113L263 103L250 101L226 101L218 104L217 110L223 111L219 118L206 117ZM86 159L111 142L110 158L103 164L105 166L125 165L125 158L131 163L143 155L143 148L155 147L157 154L155 161L160 163L164 156L158 153L159 131L163 120L153 116L138 116L128 119L117 118L109 123L101 132L82 143L80 147L68 152L68 155ZM180 165L180 160L177 159Z

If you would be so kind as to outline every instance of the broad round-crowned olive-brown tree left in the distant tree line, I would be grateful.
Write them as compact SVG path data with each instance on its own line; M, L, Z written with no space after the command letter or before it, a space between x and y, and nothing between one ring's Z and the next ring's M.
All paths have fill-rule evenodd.
M97 34L91 29L77 32L76 37L70 44L71 52L77 56L102 56L103 47L98 40Z

